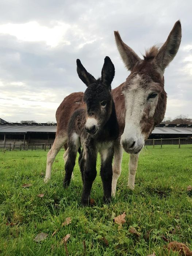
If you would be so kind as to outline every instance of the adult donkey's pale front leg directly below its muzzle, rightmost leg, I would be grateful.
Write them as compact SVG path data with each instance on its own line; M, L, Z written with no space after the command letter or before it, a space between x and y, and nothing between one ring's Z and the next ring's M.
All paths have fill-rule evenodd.
M137 171L137 163L139 159L139 153L138 154L130 154L130 160L129 160L129 176L128 176L128 187L132 190L134 190L135 187L135 174Z

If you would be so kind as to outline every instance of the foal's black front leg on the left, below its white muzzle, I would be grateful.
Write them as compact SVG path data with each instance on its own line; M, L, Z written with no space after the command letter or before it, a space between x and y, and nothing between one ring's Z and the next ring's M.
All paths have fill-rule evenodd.
M97 160L97 152L95 149L84 149L85 152L85 164L84 164L84 176L83 176L83 191L81 197L82 205L86 206L90 204L90 193L93 181L96 178L96 160Z

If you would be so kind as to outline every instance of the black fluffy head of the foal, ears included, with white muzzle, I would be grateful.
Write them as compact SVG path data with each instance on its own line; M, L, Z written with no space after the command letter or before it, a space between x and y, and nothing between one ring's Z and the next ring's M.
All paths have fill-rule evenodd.
M85 130L90 134L96 134L111 115L111 83L114 79L115 68L110 58L105 57L101 78L96 80L87 72L81 61L77 60L77 73L88 87L83 98L87 106Z

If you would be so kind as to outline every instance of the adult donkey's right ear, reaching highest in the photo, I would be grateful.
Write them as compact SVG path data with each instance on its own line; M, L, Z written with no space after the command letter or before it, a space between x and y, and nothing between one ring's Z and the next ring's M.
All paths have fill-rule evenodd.
M166 42L161 46L157 53L156 60L158 66L164 72L165 68L176 56L181 43L181 22L178 20L170 32Z

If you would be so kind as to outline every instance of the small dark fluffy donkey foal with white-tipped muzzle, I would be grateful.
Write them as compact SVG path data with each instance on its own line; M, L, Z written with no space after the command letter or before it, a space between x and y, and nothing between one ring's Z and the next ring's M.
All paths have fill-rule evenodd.
M81 145L79 156L83 182L81 203L90 204L90 192L97 174L98 152L101 156L100 175L103 182L104 202L110 203L114 141L119 135L115 105L111 95L115 68L110 58L105 57L101 78L96 80L87 72L81 61L77 60L77 73L88 87L83 98L86 109L76 110L69 121L64 187L70 183L77 151Z

